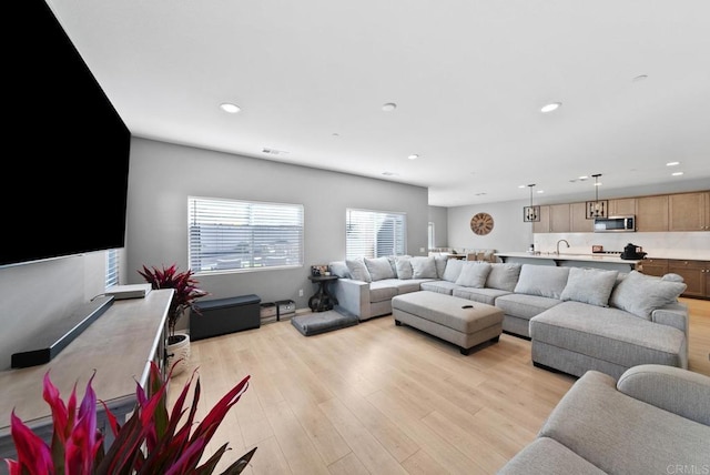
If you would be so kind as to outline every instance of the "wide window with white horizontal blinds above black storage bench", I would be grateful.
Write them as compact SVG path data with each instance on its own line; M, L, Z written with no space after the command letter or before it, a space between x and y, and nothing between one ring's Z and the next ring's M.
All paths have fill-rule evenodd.
M303 205L187 199L187 257L193 272L303 265Z

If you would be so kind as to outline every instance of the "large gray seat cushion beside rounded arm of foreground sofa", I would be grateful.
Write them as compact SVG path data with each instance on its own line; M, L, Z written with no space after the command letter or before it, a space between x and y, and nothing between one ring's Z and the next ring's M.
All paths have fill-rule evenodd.
M637 317L631 317L640 320ZM540 429L607 473L666 474L710 464L710 427L629 397L588 371Z

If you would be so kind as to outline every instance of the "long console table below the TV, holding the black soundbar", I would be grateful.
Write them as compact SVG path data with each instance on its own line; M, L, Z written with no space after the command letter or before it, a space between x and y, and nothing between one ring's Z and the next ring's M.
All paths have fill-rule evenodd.
M120 421L125 420L135 406L136 382L143 387L148 383L150 362L163 368L172 295L173 290L165 289L151 291L144 299L116 301L49 363L0 372L0 459L17 457L10 434L13 410L40 437L51 439L51 410L42 398L48 371L64 402L77 385L78 403L95 372L91 386L97 398ZM110 443L112 434L101 404L97 420Z

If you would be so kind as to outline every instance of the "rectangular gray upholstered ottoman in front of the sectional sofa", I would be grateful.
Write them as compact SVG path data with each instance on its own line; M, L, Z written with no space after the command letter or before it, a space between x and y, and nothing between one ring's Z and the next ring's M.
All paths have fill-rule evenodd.
M412 292L392 299L392 316L403 323L457 345L467 355L474 346L498 342L503 311L430 291Z

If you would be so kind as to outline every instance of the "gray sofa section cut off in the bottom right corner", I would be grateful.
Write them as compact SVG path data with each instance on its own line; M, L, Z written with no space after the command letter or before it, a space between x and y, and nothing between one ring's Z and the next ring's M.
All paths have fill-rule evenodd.
M499 471L511 474L708 474L710 377L639 365L618 381L577 380L537 438Z

